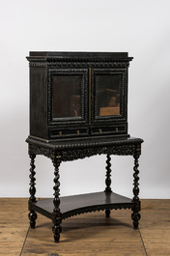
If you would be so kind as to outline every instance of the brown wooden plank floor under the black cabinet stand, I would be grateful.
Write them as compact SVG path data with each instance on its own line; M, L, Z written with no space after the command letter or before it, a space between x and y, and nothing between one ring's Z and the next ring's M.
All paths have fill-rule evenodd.
M50 219L39 214L29 229L27 199L0 198L0 255L8 256L166 256L170 255L170 200L142 200L140 229L130 210L84 213L62 223L53 242Z

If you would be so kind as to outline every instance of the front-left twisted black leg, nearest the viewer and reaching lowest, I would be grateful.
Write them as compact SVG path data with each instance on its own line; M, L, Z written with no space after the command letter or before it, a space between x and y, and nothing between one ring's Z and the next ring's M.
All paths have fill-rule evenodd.
M53 213L52 213L52 222L53 222L53 228L52 231L54 233L54 242L59 242L60 241L60 233L62 232L62 227L61 227L61 223L62 223L62 214L60 213L60 175L59 175L59 166L61 163L61 159L60 156L56 156L54 154L54 156L52 156L52 162L54 165L54 199L53 199L53 205L54 205L54 209L53 209Z

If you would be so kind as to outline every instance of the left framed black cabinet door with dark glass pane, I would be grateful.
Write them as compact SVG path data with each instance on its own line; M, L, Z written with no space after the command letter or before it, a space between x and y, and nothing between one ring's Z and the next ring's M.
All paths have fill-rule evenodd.
M48 70L48 125L88 123L88 69Z

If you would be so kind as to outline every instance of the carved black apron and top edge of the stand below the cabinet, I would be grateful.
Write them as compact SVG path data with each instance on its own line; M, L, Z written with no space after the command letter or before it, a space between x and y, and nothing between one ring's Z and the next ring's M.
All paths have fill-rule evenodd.
M34 142L33 142L34 141ZM56 147L40 141L27 139L29 143L29 154L42 155L52 158L54 153L61 156L61 161L72 161L75 159L82 159L85 157L96 155L116 155L116 156L140 156L141 154L141 139L134 139L134 141L117 141L116 145L110 142L92 142L79 143L77 140L75 144L60 145ZM44 146L43 146L44 145Z

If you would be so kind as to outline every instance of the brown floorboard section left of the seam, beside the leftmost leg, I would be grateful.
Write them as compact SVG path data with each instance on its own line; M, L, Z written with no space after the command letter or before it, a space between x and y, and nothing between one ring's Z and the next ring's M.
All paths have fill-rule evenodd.
M20 255L28 232L28 203L23 198L0 198L0 255Z

